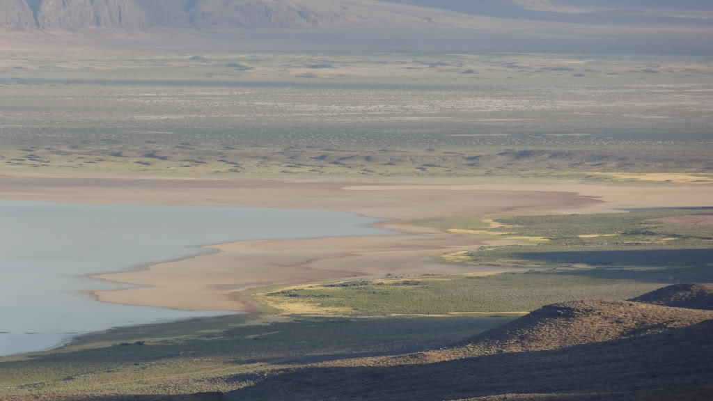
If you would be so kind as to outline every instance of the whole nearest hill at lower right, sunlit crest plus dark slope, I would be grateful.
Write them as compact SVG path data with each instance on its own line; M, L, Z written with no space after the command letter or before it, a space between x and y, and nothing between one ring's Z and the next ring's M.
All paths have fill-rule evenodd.
M713 312L548 305L453 347L287 370L232 400L705 400ZM665 377L665 380L662 378ZM245 380L245 377L236 378Z

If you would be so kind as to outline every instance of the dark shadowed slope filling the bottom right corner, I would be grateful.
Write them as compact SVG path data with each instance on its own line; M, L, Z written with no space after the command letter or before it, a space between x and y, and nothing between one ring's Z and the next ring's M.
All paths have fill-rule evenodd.
M596 328L594 328L596 329ZM419 365L311 367L231 400L709 400L713 320L556 350Z

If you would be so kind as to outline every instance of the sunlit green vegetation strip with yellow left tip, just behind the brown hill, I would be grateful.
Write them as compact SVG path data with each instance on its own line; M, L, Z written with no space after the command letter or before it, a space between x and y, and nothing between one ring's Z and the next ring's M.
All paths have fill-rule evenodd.
M362 282L363 283L363 282ZM613 280L557 271L473 276L425 276L414 280L371 281L362 285L314 285L270 293L353 315L505 313L580 299L627 299L659 288L655 283ZM349 312L347 312L349 314Z

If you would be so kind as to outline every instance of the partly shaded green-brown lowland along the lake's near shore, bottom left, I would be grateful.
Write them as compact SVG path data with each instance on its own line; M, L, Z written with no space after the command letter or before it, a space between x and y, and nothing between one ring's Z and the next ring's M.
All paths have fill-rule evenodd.
M233 390L236 375L304 363L374 355L399 355L451 344L502 325L517 315L417 318L253 318L244 325L157 340L125 330L103 347L0 362L2 393L66 399L127 394L184 394ZM187 330L192 330L190 323ZM209 324L210 326L210 324ZM171 323L168 331L178 325ZM119 341L117 341L119 340ZM0 396L0 398L2 398ZM98 399L103 399L98 397Z

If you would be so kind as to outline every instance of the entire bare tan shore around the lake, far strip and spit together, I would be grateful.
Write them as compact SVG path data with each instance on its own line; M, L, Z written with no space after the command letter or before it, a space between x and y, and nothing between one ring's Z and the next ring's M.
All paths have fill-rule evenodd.
M193 181L0 176L0 199L342 210L389 219L401 235L262 240L215 245L220 253L101 275L145 288L101 291L101 300L189 310L249 310L231 293L277 284L391 274L465 273L493 268L444 265L432 255L483 243L409 223L527 213L592 213L615 208L704 206L713 186L518 179Z

